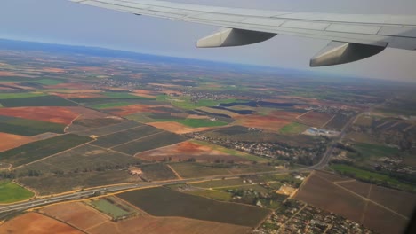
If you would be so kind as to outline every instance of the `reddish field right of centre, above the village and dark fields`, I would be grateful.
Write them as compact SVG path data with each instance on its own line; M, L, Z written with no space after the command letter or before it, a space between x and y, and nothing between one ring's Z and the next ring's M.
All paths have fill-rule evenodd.
M286 124L291 123L275 116L259 116L259 115L241 115L236 117L236 125L248 128L259 128L270 131L278 131Z

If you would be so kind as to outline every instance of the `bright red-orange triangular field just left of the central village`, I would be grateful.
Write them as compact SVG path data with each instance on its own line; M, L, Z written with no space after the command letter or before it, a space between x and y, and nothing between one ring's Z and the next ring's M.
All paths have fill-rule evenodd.
M195 159L196 161L215 161L215 160L224 160L230 161L233 160L235 162L244 162L248 160L244 160L243 158L236 157L233 155L229 155L224 152L220 152L217 150L212 150L209 146L196 144L194 142L182 142L180 144L174 144L171 146L159 148L156 150L148 151L148 152L141 152L135 155L137 158L141 160L148 160L148 161L163 161L167 159L171 159L172 161L179 161L179 160L188 160L190 158Z

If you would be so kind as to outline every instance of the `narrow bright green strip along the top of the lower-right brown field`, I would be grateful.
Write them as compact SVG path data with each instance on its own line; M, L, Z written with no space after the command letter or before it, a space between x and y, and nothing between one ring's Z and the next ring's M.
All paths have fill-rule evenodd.
M378 184L388 183L389 186L403 189L405 191L416 191L416 185L402 183L398 181L396 178L390 177L388 175L375 173L344 164L332 164L330 168L340 173L340 175L354 175L356 179L363 180L365 182L372 182Z

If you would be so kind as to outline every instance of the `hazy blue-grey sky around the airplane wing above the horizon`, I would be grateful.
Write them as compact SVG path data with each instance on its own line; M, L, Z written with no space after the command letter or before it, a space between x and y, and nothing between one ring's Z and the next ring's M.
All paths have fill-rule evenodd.
M416 14L414 0L171 0L243 8L332 13ZM97 46L174 57L200 58L416 82L416 51L386 49L355 63L309 67L325 40L277 35L244 47L197 49L195 41L218 27L114 12L68 0L1 0L0 38Z

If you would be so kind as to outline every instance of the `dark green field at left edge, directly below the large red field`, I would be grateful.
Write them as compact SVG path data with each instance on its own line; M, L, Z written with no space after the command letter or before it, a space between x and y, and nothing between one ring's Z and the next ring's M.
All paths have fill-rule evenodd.
M45 132L63 133L65 125L45 121L33 121L14 117L0 118L0 132L21 135L36 136Z

